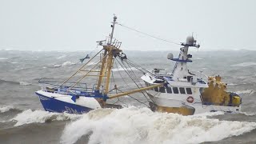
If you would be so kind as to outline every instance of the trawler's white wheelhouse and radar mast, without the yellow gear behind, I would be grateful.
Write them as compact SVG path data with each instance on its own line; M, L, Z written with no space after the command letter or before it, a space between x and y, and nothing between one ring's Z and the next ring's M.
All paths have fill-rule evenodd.
M146 86L166 82L165 86L146 91L152 100L151 109L184 115L208 111L239 112L240 105L224 106L202 100L202 92L208 88L208 84L198 74L191 73L186 65L187 62L192 62L192 55L188 54L190 46L199 47L193 37L187 37L186 43L182 43L178 58L174 58L173 54L167 55L168 59L176 62L172 73L159 74L159 70L154 69L154 74L142 76Z

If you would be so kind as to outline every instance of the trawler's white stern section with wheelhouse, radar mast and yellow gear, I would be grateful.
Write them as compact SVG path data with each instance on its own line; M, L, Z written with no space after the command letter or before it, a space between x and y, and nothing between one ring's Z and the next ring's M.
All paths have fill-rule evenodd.
M189 47L200 47L194 37L187 37L181 46L178 58L174 58L173 54L167 55L168 59L176 62L172 73L161 74L160 70L154 69L154 75L147 73L142 76L146 86L167 83L166 86L146 90L152 100L151 110L183 115L213 111L240 112L242 98L226 92L226 83L221 82L220 76L203 78L203 74L192 73L188 69L186 64L192 62Z

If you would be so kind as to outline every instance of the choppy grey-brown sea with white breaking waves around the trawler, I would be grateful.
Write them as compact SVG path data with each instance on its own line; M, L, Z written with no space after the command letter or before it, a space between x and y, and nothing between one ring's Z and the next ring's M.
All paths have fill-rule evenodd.
M174 67L166 58L168 51L124 52L148 70L171 72ZM156 113L132 101L119 110L82 115L43 110L34 94L41 89L38 80L68 78L88 53L0 50L0 143L256 143L256 51L193 50L188 64L191 71L222 76L228 90L241 95L241 114Z

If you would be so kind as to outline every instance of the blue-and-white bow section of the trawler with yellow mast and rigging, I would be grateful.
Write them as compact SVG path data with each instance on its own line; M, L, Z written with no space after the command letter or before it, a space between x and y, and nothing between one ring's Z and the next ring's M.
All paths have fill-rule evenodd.
M118 98L164 85L164 83L158 83L154 86L141 86L137 89L125 91L120 90L115 83L112 83L114 86L113 89L110 89L110 77L113 76L111 72L114 61L118 61L120 65L125 67L124 69L128 71L127 74L133 74L131 73L131 69L126 67L132 65L132 63L127 61L126 54L122 53L120 49L122 42L114 38L116 20L117 17L114 16L111 25L112 30L106 40L98 41L98 46L102 46L102 50L90 58L70 78L67 78L61 84L50 84L46 81L39 81L40 83L50 84L50 86L42 86L42 90L35 92L46 111L82 114L90 110L106 107L120 108L122 106L108 103L108 99ZM89 56L86 56L86 58L89 58ZM81 59L81 62L86 58ZM132 66L136 66L136 64ZM113 93L113 91L115 92Z

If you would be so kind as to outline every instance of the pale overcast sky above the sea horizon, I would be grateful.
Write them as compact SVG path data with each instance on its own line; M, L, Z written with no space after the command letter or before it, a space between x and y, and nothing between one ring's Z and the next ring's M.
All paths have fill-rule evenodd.
M173 42L194 33L201 50L256 50L254 0L0 0L0 50L93 50L118 22ZM117 26L124 50L179 46Z

